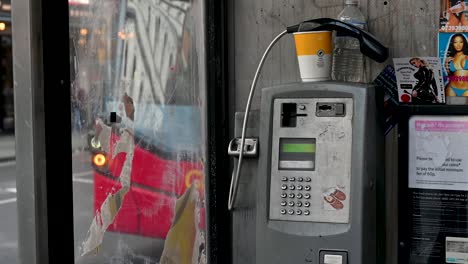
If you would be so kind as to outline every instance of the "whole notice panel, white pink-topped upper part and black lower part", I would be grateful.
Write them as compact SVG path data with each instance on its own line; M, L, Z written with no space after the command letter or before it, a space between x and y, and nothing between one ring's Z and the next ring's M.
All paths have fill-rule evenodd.
M468 263L468 116L413 116L408 135L408 263Z

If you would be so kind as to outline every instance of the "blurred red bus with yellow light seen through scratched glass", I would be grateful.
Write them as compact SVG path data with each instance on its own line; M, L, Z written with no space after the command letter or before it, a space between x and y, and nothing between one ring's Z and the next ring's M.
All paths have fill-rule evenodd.
M175 216L176 200L195 181L203 184L200 112L197 107L180 105L136 105L135 108L130 190L107 230L164 239ZM144 121L148 118L153 118L152 126L146 126L148 122ZM96 212L109 194L122 188L119 176L127 155L115 153L120 123L109 122L109 125L112 128L109 152L94 137L90 141ZM203 195L203 189L200 190ZM198 224L204 229L203 221Z

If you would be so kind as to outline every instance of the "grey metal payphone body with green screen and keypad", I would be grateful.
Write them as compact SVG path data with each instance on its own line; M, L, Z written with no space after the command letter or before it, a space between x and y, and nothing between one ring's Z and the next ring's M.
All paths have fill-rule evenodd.
M256 263L376 263L375 88L262 89Z

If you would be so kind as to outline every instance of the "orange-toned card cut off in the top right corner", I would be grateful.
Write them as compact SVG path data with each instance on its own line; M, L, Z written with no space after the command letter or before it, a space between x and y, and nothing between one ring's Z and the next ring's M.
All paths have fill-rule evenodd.
M468 32L468 0L441 0L439 32Z

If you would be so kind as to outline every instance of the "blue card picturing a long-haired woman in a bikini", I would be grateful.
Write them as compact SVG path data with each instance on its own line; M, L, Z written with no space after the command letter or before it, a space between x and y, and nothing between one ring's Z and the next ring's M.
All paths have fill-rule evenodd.
M468 96L468 33L439 33L446 96Z

